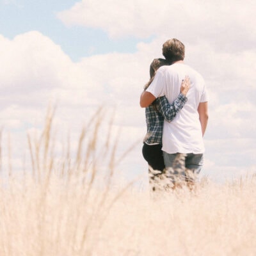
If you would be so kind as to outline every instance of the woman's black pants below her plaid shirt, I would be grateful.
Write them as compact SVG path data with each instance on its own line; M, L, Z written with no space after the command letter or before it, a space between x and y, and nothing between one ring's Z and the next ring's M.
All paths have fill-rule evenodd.
M147 145L146 143L144 143L142 148L142 154L144 159L148 162L148 165L150 165L153 170L159 170L163 172L165 166L163 151L161 148L162 145L160 144Z

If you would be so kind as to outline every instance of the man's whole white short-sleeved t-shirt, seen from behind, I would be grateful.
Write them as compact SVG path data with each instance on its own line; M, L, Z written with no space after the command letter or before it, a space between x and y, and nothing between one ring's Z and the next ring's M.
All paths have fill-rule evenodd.
M165 95L172 103L180 93L180 84L185 76L189 76L191 81L191 88L186 95L188 101L172 122L164 120L162 149L168 154L202 154L205 150L197 111L200 102L208 101L204 78L188 65L174 63L157 70L147 92L156 98Z

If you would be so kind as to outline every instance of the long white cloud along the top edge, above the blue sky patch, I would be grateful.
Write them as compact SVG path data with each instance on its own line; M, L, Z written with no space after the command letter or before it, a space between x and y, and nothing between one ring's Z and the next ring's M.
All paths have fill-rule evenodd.
M68 26L100 28L115 38L165 35L191 43L207 40L218 51L253 49L256 40L253 0L83 0L58 18Z

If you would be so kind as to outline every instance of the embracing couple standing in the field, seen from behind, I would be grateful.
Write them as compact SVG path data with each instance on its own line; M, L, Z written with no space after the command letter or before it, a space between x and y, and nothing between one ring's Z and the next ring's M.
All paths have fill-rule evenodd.
M166 41L165 60L151 63L150 81L140 97L147 120L143 156L153 190L154 180L163 176L172 188L184 182L193 186L203 164L208 95L203 77L184 63L184 55L182 42Z

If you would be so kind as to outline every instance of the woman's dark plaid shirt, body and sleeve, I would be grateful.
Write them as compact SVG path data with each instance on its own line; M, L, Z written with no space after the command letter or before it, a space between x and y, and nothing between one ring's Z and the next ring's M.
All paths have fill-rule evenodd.
M145 110L147 134L143 142L147 144L162 144L164 119L171 122L187 100L188 98L180 93L172 104L163 96L156 99L155 106L148 106Z

